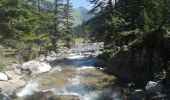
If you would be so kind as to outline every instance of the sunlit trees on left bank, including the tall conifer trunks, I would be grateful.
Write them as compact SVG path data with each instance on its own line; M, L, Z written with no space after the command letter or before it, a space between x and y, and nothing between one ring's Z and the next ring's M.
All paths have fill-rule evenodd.
M56 41L66 40L66 45L71 45L71 3L56 2L1 0L0 44L5 47L2 55L29 60L40 53L55 49Z

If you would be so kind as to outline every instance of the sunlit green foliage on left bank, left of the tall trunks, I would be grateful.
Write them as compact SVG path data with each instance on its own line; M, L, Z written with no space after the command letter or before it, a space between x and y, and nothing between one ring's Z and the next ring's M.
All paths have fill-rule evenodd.
M0 0L0 43L11 48L4 51L5 58L35 59L49 44L53 21L49 6L53 4L46 0L40 3L37 7L34 0Z

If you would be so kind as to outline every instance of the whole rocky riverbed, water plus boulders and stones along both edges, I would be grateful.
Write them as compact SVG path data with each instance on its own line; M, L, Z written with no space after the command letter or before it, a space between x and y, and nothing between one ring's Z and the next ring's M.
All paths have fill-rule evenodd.
M45 57L0 73L0 100L142 100L167 98L168 89L157 82L136 87L109 75L95 62L103 43L60 48ZM166 92L166 93L165 93Z

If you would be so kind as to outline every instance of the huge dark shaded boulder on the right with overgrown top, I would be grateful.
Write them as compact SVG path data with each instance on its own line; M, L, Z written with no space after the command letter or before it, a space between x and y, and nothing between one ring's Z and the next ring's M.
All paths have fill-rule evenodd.
M145 85L153 80L161 66L170 61L170 37L164 30L154 30L128 47L117 51L107 63L108 71L117 77Z

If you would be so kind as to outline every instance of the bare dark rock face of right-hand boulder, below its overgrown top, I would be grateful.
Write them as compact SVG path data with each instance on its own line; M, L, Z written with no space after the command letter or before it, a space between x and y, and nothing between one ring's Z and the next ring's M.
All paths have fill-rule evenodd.
M158 59L159 56L156 51L151 57L146 48L141 50L129 48L127 51L122 49L109 59L107 63L108 72L136 84L145 85L153 79L153 71L162 70L160 62L157 62Z

